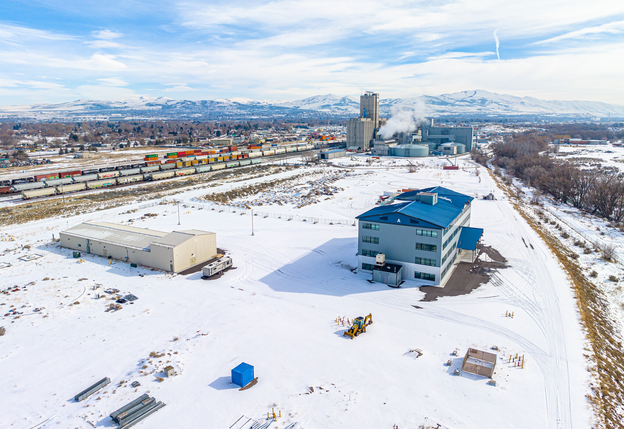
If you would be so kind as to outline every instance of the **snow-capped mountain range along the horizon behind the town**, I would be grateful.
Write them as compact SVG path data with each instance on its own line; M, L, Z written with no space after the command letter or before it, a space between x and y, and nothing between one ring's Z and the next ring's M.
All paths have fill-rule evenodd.
M485 90L470 90L421 95L410 99L382 99L381 115L389 117L402 109L417 110L422 116L470 115L591 118L608 115L624 117L624 106L592 101L540 100L534 97L496 94ZM132 97L125 100L80 99L62 104L36 104L0 107L0 117L71 119L95 118L120 114L133 118L305 118L319 114L333 117L353 117L359 114L359 97L334 94L314 95L294 101L252 100L245 98L217 100L173 100L167 97Z

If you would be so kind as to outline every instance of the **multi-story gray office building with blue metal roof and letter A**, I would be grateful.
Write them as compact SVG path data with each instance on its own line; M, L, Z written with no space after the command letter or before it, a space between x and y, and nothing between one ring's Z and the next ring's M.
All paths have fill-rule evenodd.
M435 186L404 192L395 203L375 207L359 216L359 269L373 272L376 255L403 267L402 279L441 284L451 274L463 248L475 250L483 232L470 225L471 196ZM471 247L474 245L474 249Z

